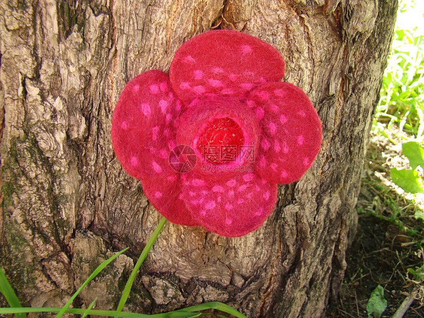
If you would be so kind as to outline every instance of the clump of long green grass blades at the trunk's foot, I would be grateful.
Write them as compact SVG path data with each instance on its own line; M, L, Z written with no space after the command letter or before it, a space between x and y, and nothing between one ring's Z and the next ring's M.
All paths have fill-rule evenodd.
M71 298L68 300L68 302L63 306L62 308L47 308L47 307L27 307L22 308L18 297L16 296L15 292L13 291L12 286L7 281L6 276L0 269L0 293L3 294L3 296L6 298L7 302L10 305L10 308L0 308L0 315L1 314L15 314L17 318L26 318L27 316L25 313L58 313L56 315L56 318L62 317L64 313L70 313L70 314L77 314L82 315L82 317L86 317L87 315L97 315L97 316L106 316L106 317L138 317L138 318L149 318L149 317L156 317L156 318L188 318L188 317L202 317L202 316L210 316L210 314L204 314L201 313L201 311L208 310L208 309L216 309L219 311L222 311L224 313L233 315L238 318L247 318L242 313L238 312L234 308L220 303L220 302L209 302L197 306L191 306L179 310L175 310L169 313L163 313L163 314L156 314L156 315L145 315L145 314L138 314L138 313L129 313L129 312L123 312L122 309L128 299L128 296L131 291L131 287L133 285L134 279L137 275L137 272L139 271L142 262L146 258L148 252L150 251L151 247L155 243L157 237L159 236L159 233L162 231L162 228L164 227L166 223L166 218L162 217L161 221L159 222L156 229L153 231L152 236L150 237L149 241L147 242L146 246L141 251L140 257L134 266L133 271L131 272L131 275L125 284L124 291L122 292L121 299L119 301L119 305L116 311L112 310L93 310L93 306L96 302L96 299L88 306L87 309L79 309L79 308L68 308L72 301L75 299L75 297L79 294L79 292L86 286L88 283L90 283L110 262L112 262L116 257L118 257L120 254L125 252L128 248L125 248L118 253L112 255L106 261L104 261L102 264L100 264L94 272L88 277L88 279L81 285L81 287L78 288L78 290L71 296ZM224 317L222 315L218 315L219 317Z

